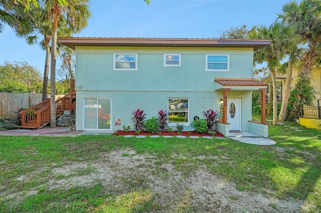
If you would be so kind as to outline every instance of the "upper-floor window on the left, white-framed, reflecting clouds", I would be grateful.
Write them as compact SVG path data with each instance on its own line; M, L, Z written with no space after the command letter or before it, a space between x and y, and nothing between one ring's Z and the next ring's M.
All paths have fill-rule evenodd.
M114 54L114 70L137 70L137 54Z

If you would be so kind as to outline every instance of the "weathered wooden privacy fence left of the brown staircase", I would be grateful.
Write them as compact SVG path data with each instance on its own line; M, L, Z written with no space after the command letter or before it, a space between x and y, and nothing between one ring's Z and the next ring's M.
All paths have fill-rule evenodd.
M28 108L42 100L41 93L0 92L0 117L13 116L19 108Z

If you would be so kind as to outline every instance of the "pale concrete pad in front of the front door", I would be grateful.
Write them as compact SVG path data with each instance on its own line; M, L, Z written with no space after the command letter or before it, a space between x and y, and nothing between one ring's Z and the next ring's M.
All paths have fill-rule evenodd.
M258 134L255 134L249 131L230 132L229 138L240 142L256 144L256 145L274 145L275 144L274 140L262 137Z

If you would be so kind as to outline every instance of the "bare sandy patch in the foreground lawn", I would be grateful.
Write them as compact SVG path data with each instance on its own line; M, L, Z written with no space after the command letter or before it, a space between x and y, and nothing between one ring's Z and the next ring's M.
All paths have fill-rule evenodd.
M268 192L239 191L236 184L216 176L207 167L183 174L171 163L159 164L153 156L140 155L130 149L104 152L87 162L66 162L53 168L50 175L52 179L45 184L47 190L95 184L103 185L106 193L115 196L150 190L153 203L158 206L154 212L302 211L301 200L276 199ZM20 179L28 178L32 176ZM34 194L37 189L31 191Z

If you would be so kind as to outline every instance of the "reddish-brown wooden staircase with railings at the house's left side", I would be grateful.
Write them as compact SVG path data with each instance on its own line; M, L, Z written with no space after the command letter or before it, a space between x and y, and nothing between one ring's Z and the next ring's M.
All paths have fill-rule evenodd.
M65 110L76 109L76 91L75 80L70 80L70 92L65 96L56 100L56 117L64 114ZM20 128L42 128L50 123L50 98L31 106L20 112L21 126Z

